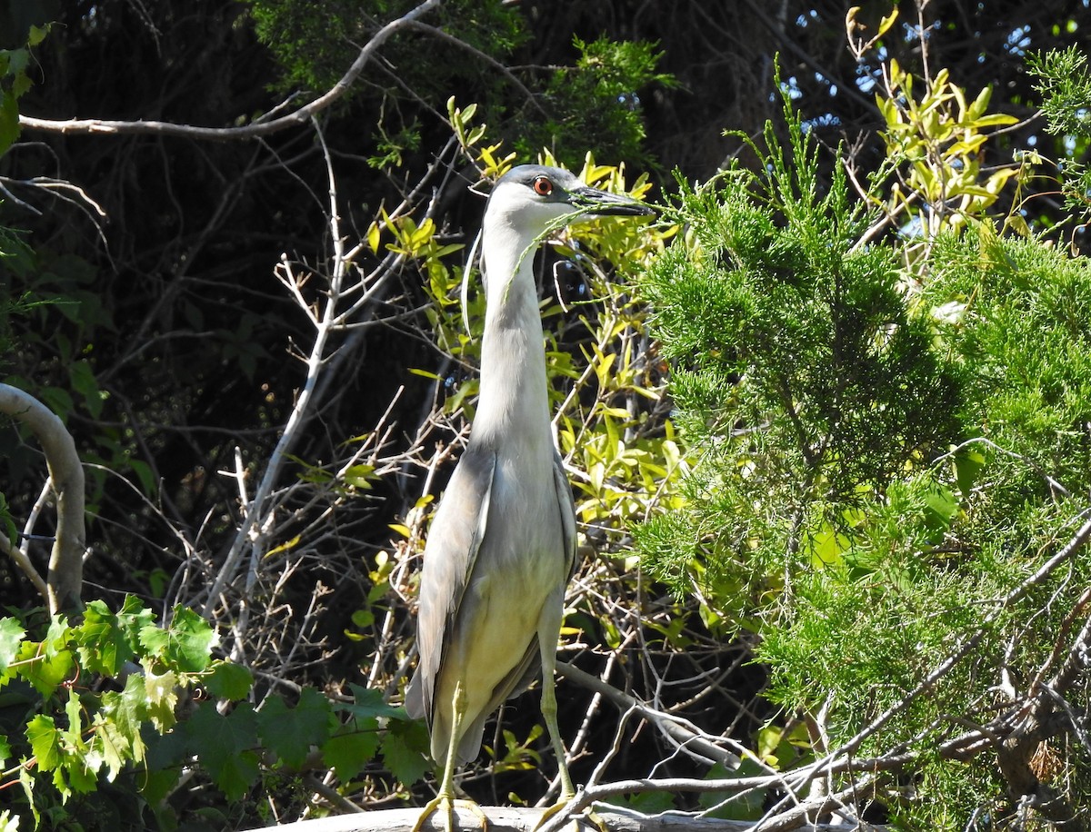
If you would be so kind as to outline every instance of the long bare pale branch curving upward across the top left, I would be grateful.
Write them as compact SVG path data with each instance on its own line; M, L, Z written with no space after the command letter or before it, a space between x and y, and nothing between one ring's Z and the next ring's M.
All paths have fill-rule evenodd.
M360 49L352 65L328 91L309 101L298 110L279 116L269 121L255 121L237 128L206 128L193 124L176 124L169 121L115 121L108 119L38 119L20 113L19 125L23 130L39 130L49 133L85 134L85 135L121 135L153 134L182 136L213 141L238 138L260 138L287 128L305 124L335 101L345 97L349 88L363 72L364 67L374 57L379 48L399 29L409 27L415 21L432 11L443 0L424 0L416 9L391 21L379 29L374 36Z

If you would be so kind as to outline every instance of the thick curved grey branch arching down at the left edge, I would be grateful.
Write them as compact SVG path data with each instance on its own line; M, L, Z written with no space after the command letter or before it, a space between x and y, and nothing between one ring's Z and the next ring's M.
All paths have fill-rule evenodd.
M75 450L75 442L56 413L17 387L0 384L0 413L26 425L41 444L52 490L57 494L57 533L46 575L49 611L57 613L80 610L83 606L80 600L83 555L87 544L83 517L83 466ZM24 552L23 555L25 554ZM40 591L41 576L29 559L15 555L13 559Z

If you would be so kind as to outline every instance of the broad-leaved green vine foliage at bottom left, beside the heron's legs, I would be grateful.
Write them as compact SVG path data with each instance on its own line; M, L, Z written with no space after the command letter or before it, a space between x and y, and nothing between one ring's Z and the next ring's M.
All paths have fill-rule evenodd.
M255 708L242 701L252 674L212 659L215 643L193 611L177 607L161 626L131 595L117 612L91 602L79 623L0 618L0 789L49 825L47 817L89 812L85 801L121 777L172 827L161 801L183 765L196 764L229 801L263 776L314 764L349 782L380 755L403 782L423 774L427 735L381 691L353 688L353 702L335 706L303 688L291 702L266 695ZM83 829L120 828L104 823Z

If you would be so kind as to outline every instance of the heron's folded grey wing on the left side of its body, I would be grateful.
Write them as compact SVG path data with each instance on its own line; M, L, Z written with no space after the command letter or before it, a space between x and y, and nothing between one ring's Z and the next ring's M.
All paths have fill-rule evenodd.
M472 444L463 454L440 501L424 544L417 614L417 673L406 690L406 711L432 725L432 698L447 635L478 552L489 517L489 496L496 454Z

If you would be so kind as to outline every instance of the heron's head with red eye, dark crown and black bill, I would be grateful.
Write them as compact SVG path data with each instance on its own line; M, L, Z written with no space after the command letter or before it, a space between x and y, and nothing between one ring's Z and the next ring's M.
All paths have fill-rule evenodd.
M627 196L588 188L575 174L544 165L519 165L500 178L485 208L497 219L537 237L559 219L644 217L651 208Z

